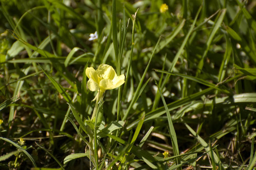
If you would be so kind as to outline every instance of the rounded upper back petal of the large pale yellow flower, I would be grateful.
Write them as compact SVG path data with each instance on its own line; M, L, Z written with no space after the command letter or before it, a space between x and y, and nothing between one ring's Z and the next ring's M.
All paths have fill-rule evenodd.
M97 74L103 79L114 79L116 72L112 66L101 64L97 69Z

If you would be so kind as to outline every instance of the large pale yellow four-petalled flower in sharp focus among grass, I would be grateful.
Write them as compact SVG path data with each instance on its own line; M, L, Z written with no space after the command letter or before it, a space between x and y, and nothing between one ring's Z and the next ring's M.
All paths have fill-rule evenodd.
M87 86L90 91L98 91L98 94L93 99L100 101L103 93L106 90L119 87L125 82L125 75L117 76L114 68L107 64L101 64L97 70L93 67L88 67L85 70L86 76L89 78Z

